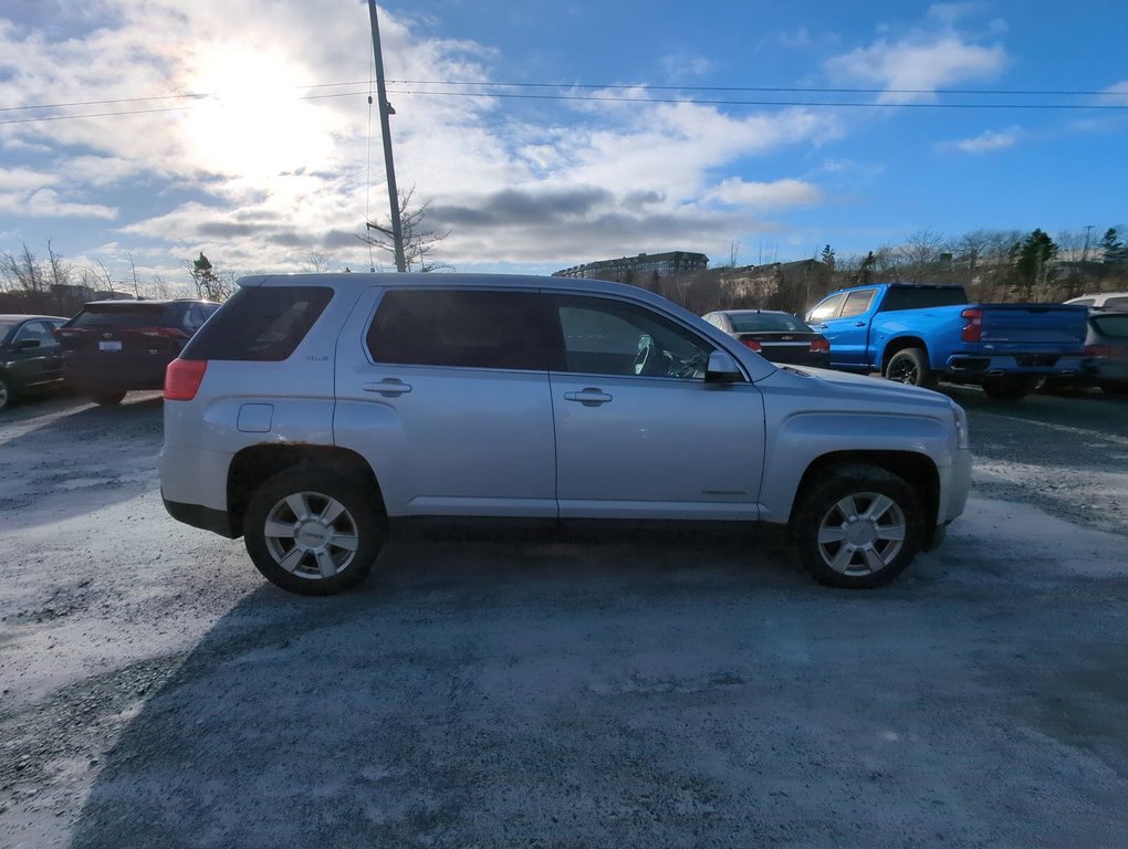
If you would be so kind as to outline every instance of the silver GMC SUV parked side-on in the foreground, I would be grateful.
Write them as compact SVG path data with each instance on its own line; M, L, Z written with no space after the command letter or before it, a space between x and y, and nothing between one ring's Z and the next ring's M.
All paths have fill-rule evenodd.
M292 592L353 586L398 524L435 518L768 522L816 580L872 587L963 511L967 418L949 398L777 368L634 286L239 286L168 368L161 493Z

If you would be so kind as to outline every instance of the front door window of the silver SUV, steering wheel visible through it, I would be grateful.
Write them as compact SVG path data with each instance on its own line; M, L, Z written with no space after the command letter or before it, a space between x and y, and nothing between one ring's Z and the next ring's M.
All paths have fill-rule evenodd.
M705 378L713 346L656 312L602 298L558 297L554 303L565 371Z

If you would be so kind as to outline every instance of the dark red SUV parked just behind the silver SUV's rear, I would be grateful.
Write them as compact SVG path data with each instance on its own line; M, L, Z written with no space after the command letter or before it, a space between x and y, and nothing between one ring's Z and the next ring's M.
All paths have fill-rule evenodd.
M56 331L63 375L98 404L118 404L131 389L160 389L165 368L218 309L190 299L92 301Z

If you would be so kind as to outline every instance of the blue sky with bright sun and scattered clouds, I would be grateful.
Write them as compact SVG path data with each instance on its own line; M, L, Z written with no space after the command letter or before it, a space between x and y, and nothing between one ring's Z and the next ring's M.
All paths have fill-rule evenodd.
M458 271L1128 221L1121 0L386 0L400 188ZM388 268L367 3L6 0L0 251ZM100 264L100 265L99 265ZM185 277L186 280L186 277Z

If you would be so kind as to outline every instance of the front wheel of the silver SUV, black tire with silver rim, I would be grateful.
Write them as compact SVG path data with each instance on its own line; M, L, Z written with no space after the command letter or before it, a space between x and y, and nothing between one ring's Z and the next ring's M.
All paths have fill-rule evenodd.
M820 584L869 590L913 561L924 521L920 498L902 478L875 466L843 466L802 494L791 539Z

